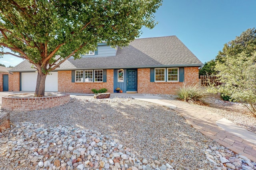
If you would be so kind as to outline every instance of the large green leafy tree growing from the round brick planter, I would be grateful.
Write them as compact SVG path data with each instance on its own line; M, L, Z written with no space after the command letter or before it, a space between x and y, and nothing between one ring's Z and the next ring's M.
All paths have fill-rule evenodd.
M97 43L126 46L155 26L162 0L0 1L1 54L27 59L38 71L36 96L44 96L46 75ZM12 50L4 52L4 48Z

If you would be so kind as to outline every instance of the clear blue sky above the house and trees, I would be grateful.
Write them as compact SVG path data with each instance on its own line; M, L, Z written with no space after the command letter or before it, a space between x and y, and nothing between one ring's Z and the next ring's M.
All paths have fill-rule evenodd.
M256 27L256 0L164 0L156 12L158 25L143 28L140 38L176 35L205 63L223 45ZM23 60L5 55L0 63L16 66Z

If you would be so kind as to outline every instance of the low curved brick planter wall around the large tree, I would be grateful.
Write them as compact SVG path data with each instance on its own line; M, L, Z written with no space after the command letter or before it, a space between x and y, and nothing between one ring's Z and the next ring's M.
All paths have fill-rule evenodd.
M70 101L70 95L44 96L39 98L17 98L14 95L2 96L2 108L12 111L31 111L61 106Z

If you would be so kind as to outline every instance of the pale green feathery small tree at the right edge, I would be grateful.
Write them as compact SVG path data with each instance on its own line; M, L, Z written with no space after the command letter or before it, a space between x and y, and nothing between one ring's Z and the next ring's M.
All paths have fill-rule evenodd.
M216 70L223 83L218 86L219 92L244 104L256 117L256 30L246 30L225 44L219 54L222 56ZM208 90L216 92L213 88Z

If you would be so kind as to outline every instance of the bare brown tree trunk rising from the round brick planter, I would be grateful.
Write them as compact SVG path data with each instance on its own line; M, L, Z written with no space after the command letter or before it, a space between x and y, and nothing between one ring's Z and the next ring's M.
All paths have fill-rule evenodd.
M47 74L44 74L43 72L38 70L35 96L38 96L38 97L44 96L46 76Z

